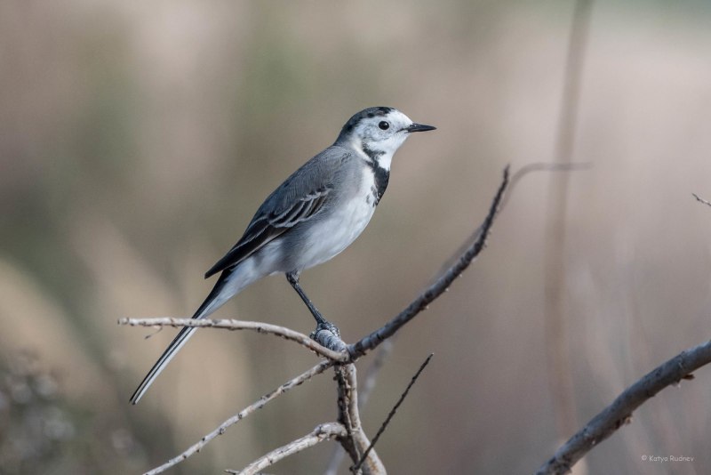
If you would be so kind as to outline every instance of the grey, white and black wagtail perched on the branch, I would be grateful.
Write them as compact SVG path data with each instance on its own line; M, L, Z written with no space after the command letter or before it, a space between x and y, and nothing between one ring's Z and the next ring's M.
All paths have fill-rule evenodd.
M316 318L334 329L299 284L302 270L331 260L363 232L387 188L395 151L411 133L435 130L390 107L363 109L348 119L332 146L287 178L267 197L244 235L205 278L220 273L193 318L207 318L245 287L284 273ZM195 327L183 327L138 388L136 404ZM338 332L338 329L335 328Z

